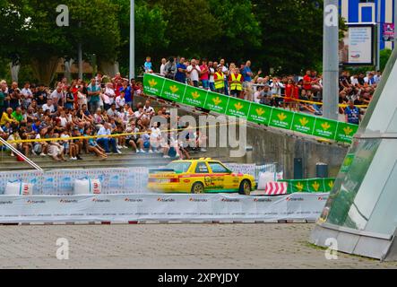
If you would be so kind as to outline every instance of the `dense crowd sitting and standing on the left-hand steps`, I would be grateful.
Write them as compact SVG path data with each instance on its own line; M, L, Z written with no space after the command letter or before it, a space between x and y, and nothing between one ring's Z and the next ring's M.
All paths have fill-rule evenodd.
M202 143L203 138L195 131L187 134L184 143L179 143L177 136L162 136L169 126L153 124L151 118L168 118L169 112L165 107L153 109L150 100L134 105L134 98L142 91L142 83L130 82L120 74L113 78L97 74L90 83L78 79L68 84L64 78L54 90L30 83L20 88L18 83L8 85L3 80L0 136L26 156L50 156L55 161L82 160L84 153L107 159L108 154L122 153L123 149L188 159L186 142ZM12 142L21 140L30 141ZM1 149L15 156L6 146Z

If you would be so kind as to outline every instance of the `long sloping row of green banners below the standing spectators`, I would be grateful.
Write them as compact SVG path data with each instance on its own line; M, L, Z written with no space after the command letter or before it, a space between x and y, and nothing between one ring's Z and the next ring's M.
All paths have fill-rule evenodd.
M209 109L227 116L244 117L256 124L315 135L337 142L351 143L353 135L358 130L357 125L240 100L153 74L144 75L143 86L146 94L165 100Z

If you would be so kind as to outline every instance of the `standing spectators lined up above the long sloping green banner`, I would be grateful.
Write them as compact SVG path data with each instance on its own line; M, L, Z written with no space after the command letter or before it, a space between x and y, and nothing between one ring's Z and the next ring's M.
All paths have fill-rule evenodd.
M146 58L145 73L153 73L151 57ZM206 90L220 92L243 100L289 109L305 111L316 116L323 115L323 79L315 70L308 70L302 75L274 76L264 75L262 70L254 73L251 61L237 65L226 64L225 59L208 61L207 59L191 59L185 57L163 58L160 75L180 83L186 83ZM369 72L353 74L342 72L340 77L339 102L340 113L346 115L346 121L358 124L363 114L357 105L367 105L375 92L382 74ZM349 108L351 103L355 107ZM346 106L346 107L345 107Z

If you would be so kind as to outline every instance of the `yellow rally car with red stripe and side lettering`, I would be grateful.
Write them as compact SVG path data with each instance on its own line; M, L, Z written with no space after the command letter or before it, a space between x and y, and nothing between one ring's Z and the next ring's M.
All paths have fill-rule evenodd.
M148 189L166 193L238 192L249 196L255 178L235 173L210 158L172 161L164 169L149 170Z

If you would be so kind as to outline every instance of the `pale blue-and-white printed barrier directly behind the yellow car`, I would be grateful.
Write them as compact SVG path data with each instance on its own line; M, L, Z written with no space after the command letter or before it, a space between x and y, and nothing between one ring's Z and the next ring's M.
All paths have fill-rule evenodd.
M274 172L276 165L226 163L229 170L256 177L263 171ZM74 194L142 194L146 192L149 169L145 167L112 169L74 169L0 172L0 195L13 184L11 194L19 195L21 187L29 185L30 195L70 196ZM79 187L76 189L76 180ZM97 183L95 186L94 183ZM97 191L95 191L97 188ZM100 189L98 192L98 188ZM17 193L18 191L18 193ZM88 191L88 192L87 192Z

